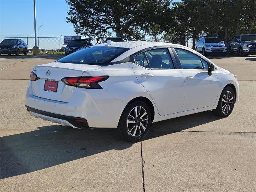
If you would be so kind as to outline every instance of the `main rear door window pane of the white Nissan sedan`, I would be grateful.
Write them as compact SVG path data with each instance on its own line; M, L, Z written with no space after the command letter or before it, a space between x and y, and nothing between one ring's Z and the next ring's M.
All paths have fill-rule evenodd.
M153 69L174 69L172 59L167 48L152 49L145 52L149 66Z

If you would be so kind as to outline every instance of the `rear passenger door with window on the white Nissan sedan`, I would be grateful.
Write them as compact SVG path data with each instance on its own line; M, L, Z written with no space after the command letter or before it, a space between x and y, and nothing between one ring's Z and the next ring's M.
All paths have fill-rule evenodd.
M168 48L138 53L132 67L138 81L148 91L160 115L181 112L184 102L184 77Z

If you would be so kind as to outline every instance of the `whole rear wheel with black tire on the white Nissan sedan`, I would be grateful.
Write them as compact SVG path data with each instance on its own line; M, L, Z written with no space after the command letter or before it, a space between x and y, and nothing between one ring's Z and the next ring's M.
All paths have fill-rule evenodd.
M117 132L124 140L138 142L146 136L150 124L151 112L149 107L144 102L135 101L128 104L122 112Z

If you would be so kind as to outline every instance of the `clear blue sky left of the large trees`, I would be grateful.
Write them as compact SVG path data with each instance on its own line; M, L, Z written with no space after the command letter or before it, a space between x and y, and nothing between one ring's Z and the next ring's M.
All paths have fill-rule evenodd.
M173 0L173 2L180 1ZM0 42L4 40L4 37L34 36L33 6L33 0L0 0ZM42 25L39 36L76 35L72 24L66 22L68 11L69 6L65 0L36 0L36 29ZM26 39L22 38L24 42L27 42ZM32 38L28 38L30 48L33 41ZM56 49L59 47L58 38L41 39L40 42L42 48ZM54 46L51 46L53 42L55 42Z

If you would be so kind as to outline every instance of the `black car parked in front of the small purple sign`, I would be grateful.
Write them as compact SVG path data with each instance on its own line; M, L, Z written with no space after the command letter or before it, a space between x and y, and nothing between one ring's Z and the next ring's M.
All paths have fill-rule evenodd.
M72 40L70 44L65 47L65 54L68 55L70 53L76 52L79 49L92 46L92 42L88 39L76 39Z

